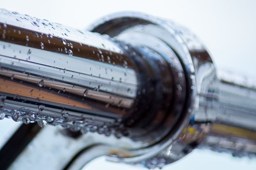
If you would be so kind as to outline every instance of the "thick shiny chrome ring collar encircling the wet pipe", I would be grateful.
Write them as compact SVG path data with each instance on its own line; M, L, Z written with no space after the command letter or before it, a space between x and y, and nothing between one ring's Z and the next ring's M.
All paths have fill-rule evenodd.
M123 25L126 26L125 29ZM90 29L116 36L125 42L146 46L163 56L167 53L166 49L174 51L178 60L171 57L170 53L167 53L169 58L166 60L175 68L175 80L179 80L176 87L185 95L185 100L176 103L173 108L181 107L181 110L175 110L176 113L181 112L178 124L161 142L141 149L139 152L144 154L136 157L110 157L110 160L150 169L161 168L198 146L209 132L211 123L198 122L197 117L206 112L214 113L218 109L218 102L215 100L218 95L218 79L208 52L196 36L176 23L138 13L114 14L99 20ZM183 80L185 84L182 83ZM128 153L138 154L136 152Z

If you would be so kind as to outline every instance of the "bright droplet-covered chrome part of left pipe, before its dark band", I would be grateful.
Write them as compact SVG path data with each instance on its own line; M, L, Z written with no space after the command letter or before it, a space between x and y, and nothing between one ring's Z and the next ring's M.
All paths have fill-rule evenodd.
M0 18L2 114L41 126L86 119L97 130L132 107L136 68L109 38L5 10Z

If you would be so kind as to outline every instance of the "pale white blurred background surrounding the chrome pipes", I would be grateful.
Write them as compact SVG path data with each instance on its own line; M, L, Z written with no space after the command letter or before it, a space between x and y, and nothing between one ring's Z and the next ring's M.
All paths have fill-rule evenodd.
M256 0L0 0L0 8L81 29L99 17L120 11L139 11L169 18L186 26L201 39L217 68L256 79ZM4 131L8 130L2 121L0 134L3 127ZM99 158L85 170L100 169L137 168L108 163ZM228 154L196 150L164 168L188 169L256 170L256 159L239 159Z

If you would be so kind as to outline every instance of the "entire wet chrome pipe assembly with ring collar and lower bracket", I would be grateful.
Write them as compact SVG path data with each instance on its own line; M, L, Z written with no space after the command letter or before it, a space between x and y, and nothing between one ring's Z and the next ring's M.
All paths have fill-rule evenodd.
M41 130L10 169L25 159L24 169L80 169L96 145L95 157L149 169L196 147L255 156L256 84L217 76L194 34L140 13L88 30L0 10L0 118L60 125ZM47 165L41 146L55 150Z

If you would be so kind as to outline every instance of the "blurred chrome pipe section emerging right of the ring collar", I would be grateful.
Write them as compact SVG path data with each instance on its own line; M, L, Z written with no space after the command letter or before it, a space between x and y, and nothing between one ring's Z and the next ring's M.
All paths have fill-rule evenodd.
M210 133L201 144L234 156L256 156L256 82L219 72L219 111Z

